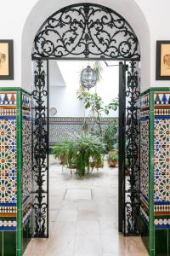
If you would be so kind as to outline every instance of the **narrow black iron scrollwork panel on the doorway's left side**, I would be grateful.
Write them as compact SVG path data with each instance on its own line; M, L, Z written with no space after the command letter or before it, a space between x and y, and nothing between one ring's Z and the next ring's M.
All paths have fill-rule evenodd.
M48 203L47 191L44 189L47 183L47 157L48 157L48 129L47 129L47 106L44 97L48 96L46 88L46 73L43 69L43 61L37 61L37 67L34 72L34 90L32 91L34 125L33 125L33 175L35 183L35 235L37 237L47 236Z

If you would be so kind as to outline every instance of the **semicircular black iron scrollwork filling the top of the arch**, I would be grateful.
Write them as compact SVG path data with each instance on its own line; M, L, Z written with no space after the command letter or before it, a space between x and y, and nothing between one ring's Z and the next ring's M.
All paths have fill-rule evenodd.
M33 59L116 59L139 61L139 41L127 21L94 3L69 5L42 24Z

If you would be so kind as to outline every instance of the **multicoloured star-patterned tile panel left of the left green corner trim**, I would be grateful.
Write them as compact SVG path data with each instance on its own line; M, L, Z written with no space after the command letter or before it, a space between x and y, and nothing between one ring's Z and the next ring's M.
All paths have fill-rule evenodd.
M0 231L16 230L16 93L0 92Z

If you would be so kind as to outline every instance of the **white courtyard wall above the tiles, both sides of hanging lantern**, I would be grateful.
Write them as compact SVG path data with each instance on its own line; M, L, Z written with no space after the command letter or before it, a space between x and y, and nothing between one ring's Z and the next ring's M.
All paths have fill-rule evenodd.
M50 69L49 108L57 108L57 117L83 117L84 108L82 102L77 100L77 90L80 88L82 68L87 67L88 63L93 67L93 61L58 61L59 71L65 81L65 86L55 84L55 81L59 79L59 73L57 69L55 73L54 66ZM118 63L108 61L108 64L117 65ZM100 65L103 68L102 79L89 92L97 92L101 96L104 105L108 105L113 98L118 96L118 67L106 67L103 61L100 62ZM88 116L89 110L86 110L85 113ZM109 115L102 113L102 116L118 117L118 110L111 111Z

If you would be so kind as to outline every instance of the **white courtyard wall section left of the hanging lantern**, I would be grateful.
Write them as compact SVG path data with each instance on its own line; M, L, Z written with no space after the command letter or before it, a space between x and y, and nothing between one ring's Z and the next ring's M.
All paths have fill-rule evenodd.
M79 65L80 63L76 61L58 61L58 67L65 80L65 86L54 86L54 81L59 79L59 73L54 75L54 70L50 69L49 108L57 109L57 117L83 116L82 103L77 100Z

